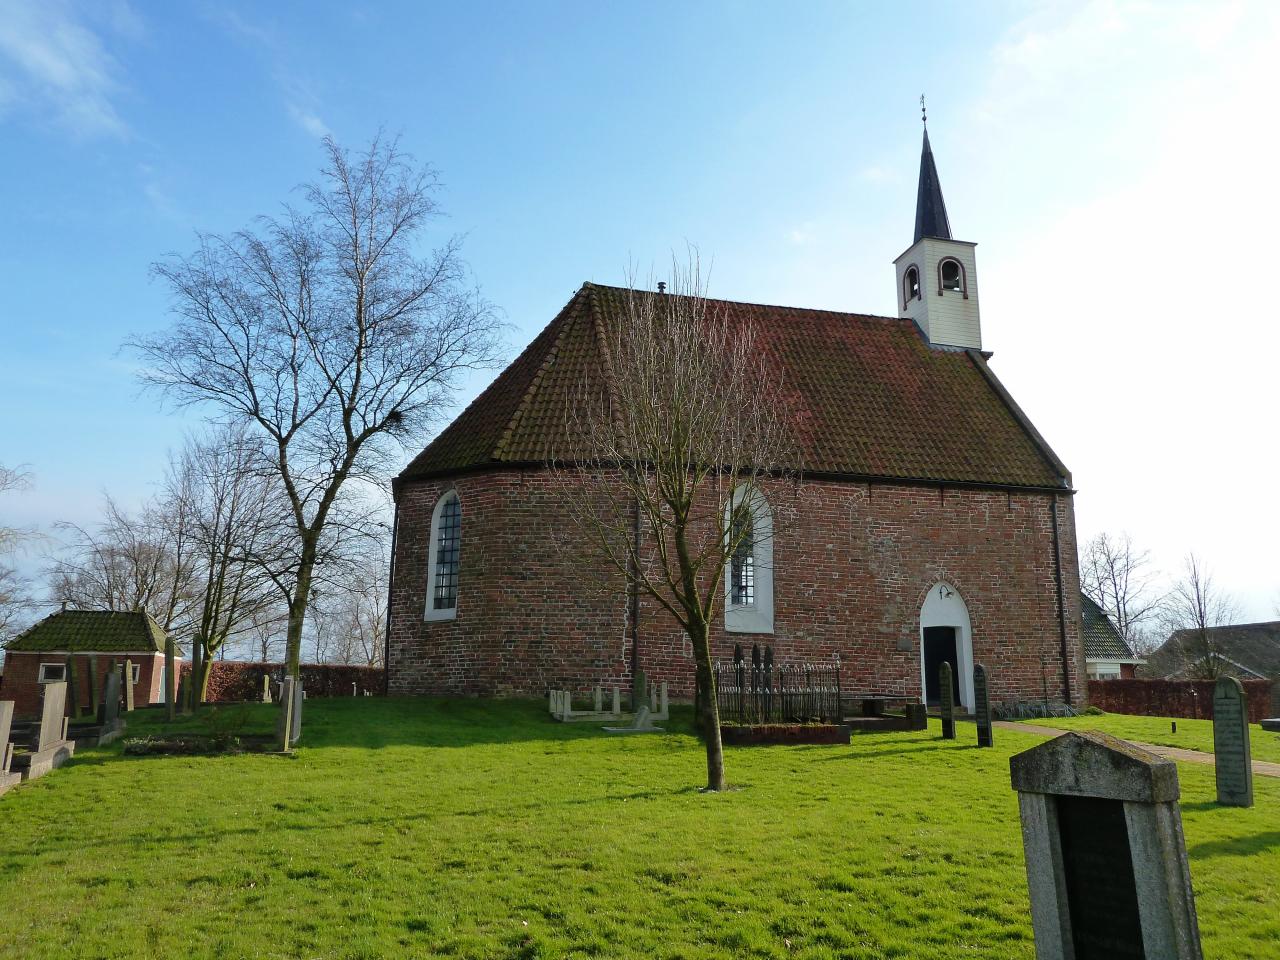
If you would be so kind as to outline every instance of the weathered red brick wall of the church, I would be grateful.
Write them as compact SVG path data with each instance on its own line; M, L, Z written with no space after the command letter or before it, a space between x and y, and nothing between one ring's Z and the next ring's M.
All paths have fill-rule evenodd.
M440 493L462 503L457 618L425 622L428 539ZM774 529L774 632L726 634L768 643L780 658L840 653L851 686L919 695L919 613L940 580L959 589L974 660L992 700L1064 696L1050 494L806 481L767 489ZM1071 498L1059 495L1071 699L1085 690ZM388 678L393 694L543 695L550 687L627 686L628 602L618 573L584 568L553 540L572 531L545 472L493 471L406 484L392 594ZM591 586L603 584L602 589ZM672 694L692 692L689 644L645 598L640 666Z

